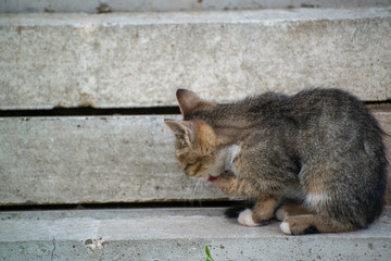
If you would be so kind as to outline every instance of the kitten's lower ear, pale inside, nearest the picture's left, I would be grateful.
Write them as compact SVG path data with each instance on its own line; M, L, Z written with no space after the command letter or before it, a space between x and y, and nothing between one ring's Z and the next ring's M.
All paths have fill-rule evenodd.
M184 145L192 148L195 139L197 126L191 121L164 120L164 123Z

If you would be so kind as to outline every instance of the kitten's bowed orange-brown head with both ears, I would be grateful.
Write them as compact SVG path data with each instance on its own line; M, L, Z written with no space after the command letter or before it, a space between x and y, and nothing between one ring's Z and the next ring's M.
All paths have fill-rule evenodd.
M203 101L190 90L178 89L176 92L184 119L199 110L216 107L216 103ZM216 134L201 120L165 120L176 137L176 158L185 173L207 181L213 173L211 167L216 161Z

